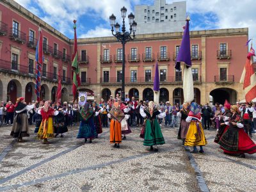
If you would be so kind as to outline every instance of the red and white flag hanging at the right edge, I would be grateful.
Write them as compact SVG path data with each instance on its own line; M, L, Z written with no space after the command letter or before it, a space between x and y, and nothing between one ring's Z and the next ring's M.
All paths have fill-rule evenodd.
M252 56L255 56L255 51L251 47L240 80L240 83L243 83L246 102L250 102L251 100L256 98L256 74L251 62Z

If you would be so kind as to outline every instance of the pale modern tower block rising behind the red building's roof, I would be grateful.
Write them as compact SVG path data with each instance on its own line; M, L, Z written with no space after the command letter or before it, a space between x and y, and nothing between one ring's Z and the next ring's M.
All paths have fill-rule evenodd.
M153 6L135 6L136 34L170 33L183 31L186 25L186 1L166 4L155 0Z

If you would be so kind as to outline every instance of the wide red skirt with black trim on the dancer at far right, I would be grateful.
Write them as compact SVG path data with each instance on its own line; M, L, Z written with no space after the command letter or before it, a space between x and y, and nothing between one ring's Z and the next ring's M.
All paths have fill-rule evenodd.
M225 133L227 133L229 126L225 127L225 130L223 132L223 135L221 136L219 144L221 145L221 140L223 139L223 136L225 136ZM251 140L251 138L244 132L244 129L236 128L238 140L237 140L237 150L228 150L227 145L223 147L224 145L220 146L222 150L224 150L227 154L254 154L256 153L256 144ZM223 141L223 140L222 140ZM229 143L232 144L232 143ZM235 143L234 143L235 144ZM235 144L236 145L236 144Z

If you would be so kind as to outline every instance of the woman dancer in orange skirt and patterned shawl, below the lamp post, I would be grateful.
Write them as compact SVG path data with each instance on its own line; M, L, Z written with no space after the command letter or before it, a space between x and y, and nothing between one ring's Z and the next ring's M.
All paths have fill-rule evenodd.
M119 144L122 143L121 122L123 119L129 119L129 115L125 115L123 112L124 108L126 108L126 106L121 103L120 99L117 99L108 113L108 118L111 119L110 143L115 143L114 147L116 148L120 148Z

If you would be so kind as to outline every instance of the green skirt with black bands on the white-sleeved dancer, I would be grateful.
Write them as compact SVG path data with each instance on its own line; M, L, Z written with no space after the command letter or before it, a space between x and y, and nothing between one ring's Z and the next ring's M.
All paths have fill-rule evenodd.
M145 124L145 138L143 145L163 145L164 143L164 137L161 132L161 128L157 122L157 119L154 119L152 121L147 119Z

